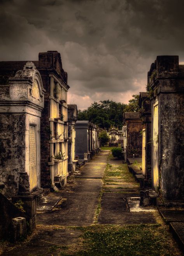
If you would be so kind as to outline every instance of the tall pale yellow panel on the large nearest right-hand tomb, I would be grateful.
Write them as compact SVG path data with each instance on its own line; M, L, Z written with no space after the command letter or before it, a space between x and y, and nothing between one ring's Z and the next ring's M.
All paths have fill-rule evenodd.
M153 106L153 187L157 191L158 179L158 102Z

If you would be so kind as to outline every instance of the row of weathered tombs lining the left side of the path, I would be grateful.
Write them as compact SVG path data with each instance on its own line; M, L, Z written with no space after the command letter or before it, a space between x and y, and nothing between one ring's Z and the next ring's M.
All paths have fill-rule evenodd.
M39 61L0 62L0 182L7 197L42 194L67 182L76 164L98 152L98 127L77 121L67 104L60 53Z

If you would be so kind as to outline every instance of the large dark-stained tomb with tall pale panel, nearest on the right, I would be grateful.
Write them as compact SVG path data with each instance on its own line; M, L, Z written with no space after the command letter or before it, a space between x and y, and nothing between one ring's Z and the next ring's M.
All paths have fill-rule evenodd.
M153 140L152 188L165 204L181 203L184 201L184 65L179 65L178 56L156 58L148 72L148 90Z

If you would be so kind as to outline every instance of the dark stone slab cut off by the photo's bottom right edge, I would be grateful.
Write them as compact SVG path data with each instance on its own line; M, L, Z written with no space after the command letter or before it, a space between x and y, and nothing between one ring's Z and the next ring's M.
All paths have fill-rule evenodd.
M169 226L175 240L184 251L184 222L170 222Z

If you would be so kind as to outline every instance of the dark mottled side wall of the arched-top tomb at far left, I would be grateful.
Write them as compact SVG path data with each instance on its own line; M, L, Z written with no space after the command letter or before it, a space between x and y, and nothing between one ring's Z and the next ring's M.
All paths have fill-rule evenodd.
M25 171L25 114L1 114L0 155L3 194L11 197L18 191L19 172Z

